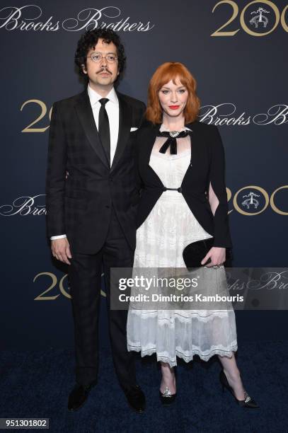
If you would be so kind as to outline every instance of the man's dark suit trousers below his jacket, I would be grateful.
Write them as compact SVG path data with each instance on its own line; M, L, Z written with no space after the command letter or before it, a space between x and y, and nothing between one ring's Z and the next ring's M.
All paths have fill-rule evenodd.
M129 247L112 207L103 247L93 255L77 253L71 246L69 283L74 316L76 382L97 383L99 364L98 322L101 270L103 265L108 323L113 363L120 386L136 385L134 357L127 351L127 311L110 310L110 268L132 267L134 251Z

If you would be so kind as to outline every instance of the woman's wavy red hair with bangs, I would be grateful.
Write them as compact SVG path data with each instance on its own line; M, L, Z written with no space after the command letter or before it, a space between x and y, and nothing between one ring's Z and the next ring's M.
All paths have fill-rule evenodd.
M147 120L152 123L161 123L163 110L159 102L158 93L161 87L179 79L181 84L188 90L188 100L184 109L185 124L193 122L200 110L200 99L196 94L197 83L188 69L180 62L166 62L161 64L154 72L148 88L148 103L145 112Z

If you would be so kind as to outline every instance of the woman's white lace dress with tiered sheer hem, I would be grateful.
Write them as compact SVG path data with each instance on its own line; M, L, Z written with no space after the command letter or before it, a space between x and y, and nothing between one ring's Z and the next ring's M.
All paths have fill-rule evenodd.
M166 129L161 125L160 130ZM169 150L166 154L159 152L165 141L165 137L156 138L149 165L164 186L178 188L190 164L190 137L177 139L177 155L171 155ZM183 195L167 190L137 230L134 268L185 268L182 255L185 246L210 237ZM224 266L205 270L211 272L208 293L217 294L220 289L223 293L223 287L218 285L226 284ZM176 357L189 362L195 354L205 361L214 354L231 357L237 350L234 310L144 310L130 305L127 349L141 352L142 357L156 353L158 361L171 366L177 365Z

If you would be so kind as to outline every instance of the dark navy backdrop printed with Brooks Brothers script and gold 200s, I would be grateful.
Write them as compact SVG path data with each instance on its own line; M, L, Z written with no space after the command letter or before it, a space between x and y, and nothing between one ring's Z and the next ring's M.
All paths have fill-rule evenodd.
M74 344L67 269L52 260L45 233L47 142L52 103L83 90L76 43L98 27L125 43L123 93L146 103L159 64L190 69L200 120L218 125L226 151L233 265L287 266L287 0L1 0L4 350ZM286 337L286 311L236 311L236 318L239 340Z

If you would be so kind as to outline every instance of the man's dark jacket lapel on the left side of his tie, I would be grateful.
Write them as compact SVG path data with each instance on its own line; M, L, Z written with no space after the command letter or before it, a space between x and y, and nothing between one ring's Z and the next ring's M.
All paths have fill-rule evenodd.
M96 151L96 154L103 164L109 168L108 159L98 136L98 130L87 91L83 91L83 93L79 95L75 108L89 144L93 151Z

